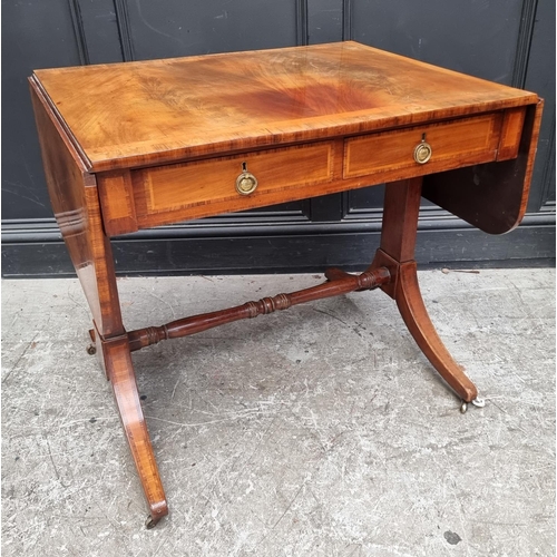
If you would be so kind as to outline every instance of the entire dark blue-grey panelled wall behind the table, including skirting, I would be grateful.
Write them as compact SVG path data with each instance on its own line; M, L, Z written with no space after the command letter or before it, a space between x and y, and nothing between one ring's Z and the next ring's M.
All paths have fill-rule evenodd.
M554 0L28 0L4 2L2 16L7 276L74 274L48 201L27 87L32 69L348 39L524 86L546 99L526 225L490 237L424 203L418 260L554 262ZM382 196L375 186L143 231L115 241L117 267L133 274L362 268L378 242Z

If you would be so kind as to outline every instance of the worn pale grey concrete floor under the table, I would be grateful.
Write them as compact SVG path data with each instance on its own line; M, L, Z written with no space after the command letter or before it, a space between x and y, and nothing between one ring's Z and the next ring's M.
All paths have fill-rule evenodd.
M320 281L119 289L135 329ZM77 280L3 281L3 555L555 555L555 271L420 281L483 409L459 412L381 292L135 353L170 505L154 530Z

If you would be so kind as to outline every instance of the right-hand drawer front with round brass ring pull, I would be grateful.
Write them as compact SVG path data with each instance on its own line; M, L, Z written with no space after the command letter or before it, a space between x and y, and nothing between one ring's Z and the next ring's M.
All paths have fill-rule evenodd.
M344 143L344 178L397 173L404 177L441 172L497 158L502 115L489 114L450 123L430 124L352 137ZM416 148L426 141L431 157L423 164L414 159Z

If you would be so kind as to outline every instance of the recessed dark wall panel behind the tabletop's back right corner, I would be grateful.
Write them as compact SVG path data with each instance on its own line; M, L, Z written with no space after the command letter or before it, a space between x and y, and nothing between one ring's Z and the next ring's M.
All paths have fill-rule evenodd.
M353 2L353 39L510 85L522 1Z

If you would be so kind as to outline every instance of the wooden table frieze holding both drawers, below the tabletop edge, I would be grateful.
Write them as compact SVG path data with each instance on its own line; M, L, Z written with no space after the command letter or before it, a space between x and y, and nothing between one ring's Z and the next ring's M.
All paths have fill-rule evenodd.
M516 157L524 107L388 131L99 173L108 236ZM414 149L427 141L426 164ZM243 195L236 184L254 177ZM251 178L250 178L251 179Z

